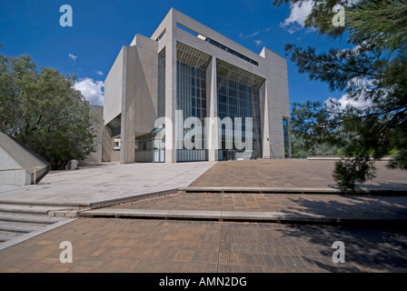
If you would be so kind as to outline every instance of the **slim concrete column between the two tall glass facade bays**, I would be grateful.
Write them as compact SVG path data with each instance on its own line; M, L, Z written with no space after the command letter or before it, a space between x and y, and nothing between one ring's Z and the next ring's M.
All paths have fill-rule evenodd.
M218 116L218 95L216 88L216 57L212 57L212 62L206 69L206 105L208 105L209 121L206 136L208 160L210 162L218 161L218 125L216 123Z

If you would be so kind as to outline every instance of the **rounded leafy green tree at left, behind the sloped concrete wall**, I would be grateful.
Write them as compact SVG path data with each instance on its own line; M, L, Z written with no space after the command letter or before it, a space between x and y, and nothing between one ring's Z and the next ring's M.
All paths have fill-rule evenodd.
M43 156L53 169L94 151L94 117L74 75L36 71L29 55L0 55L0 131Z

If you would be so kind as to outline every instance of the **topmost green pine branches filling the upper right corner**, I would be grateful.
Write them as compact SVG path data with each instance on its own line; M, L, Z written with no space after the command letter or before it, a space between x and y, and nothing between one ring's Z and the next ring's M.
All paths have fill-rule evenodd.
M274 0L273 5L309 0ZM345 8L345 26L333 26L334 5ZM348 42L368 44L391 51L407 49L407 6L405 0L324 0L313 1L313 11L305 20L306 27L314 27L320 35L342 37L349 32Z

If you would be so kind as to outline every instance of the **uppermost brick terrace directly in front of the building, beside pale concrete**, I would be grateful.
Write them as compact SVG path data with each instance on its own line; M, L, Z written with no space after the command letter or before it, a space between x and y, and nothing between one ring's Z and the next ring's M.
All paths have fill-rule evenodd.
M223 161L216 163L190 186L335 188L334 165L334 160ZM407 172L389 170L386 165L385 161L376 162L377 176L364 186L372 190L407 190Z

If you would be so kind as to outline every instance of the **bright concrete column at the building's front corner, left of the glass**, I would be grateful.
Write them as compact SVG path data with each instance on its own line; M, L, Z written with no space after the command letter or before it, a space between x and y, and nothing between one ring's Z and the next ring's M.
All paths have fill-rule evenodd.
M176 163L175 110L176 40L173 38L165 48L165 163Z

